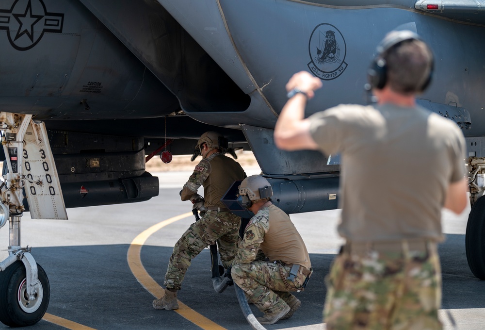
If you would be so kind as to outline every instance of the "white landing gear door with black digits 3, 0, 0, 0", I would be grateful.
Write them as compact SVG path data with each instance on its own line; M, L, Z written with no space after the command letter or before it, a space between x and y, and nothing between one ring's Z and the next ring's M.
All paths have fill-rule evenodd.
M20 156L20 155L19 155ZM32 219L65 219L64 198L43 122L31 121L24 135L23 188Z

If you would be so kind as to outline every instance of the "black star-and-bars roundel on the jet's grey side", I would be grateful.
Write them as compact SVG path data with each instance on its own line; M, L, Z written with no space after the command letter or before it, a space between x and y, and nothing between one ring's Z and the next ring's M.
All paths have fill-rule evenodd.
M0 9L0 30L17 50L37 45L45 32L62 33L64 14L48 13L42 0L16 0L10 10Z

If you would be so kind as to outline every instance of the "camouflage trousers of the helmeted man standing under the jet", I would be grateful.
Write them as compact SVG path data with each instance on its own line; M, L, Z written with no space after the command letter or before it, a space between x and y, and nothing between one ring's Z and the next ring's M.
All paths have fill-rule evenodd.
M175 244L165 274L165 286L180 290L192 259L215 242L223 266L229 267L236 256L240 226L241 218L232 213L206 211L202 214L200 220L190 225Z

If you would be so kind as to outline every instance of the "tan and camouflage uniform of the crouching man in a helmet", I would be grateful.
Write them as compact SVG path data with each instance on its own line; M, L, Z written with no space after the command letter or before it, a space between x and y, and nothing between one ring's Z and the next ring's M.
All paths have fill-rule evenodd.
M273 211L280 222L270 221L270 212ZM286 239L282 239L283 236ZM288 250L291 251L281 247L268 247L268 241L273 239L289 247ZM262 260L261 251L269 261ZM294 281L287 280L291 266L285 264L303 264L306 269L311 268L305 244L290 217L275 205L265 204L251 218L244 231L231 275L261 312L278 313L297 300L290 291L301 289L307 278L298 272Z

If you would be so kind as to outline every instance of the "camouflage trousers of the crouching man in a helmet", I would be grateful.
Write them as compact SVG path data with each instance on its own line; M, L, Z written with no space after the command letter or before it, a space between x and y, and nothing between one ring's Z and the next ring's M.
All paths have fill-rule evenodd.
M281 312L294 296L289 291L297 291L306 276L298 274L294 282L288 281L291 268L280 264L253 261L249 264L233 264L232 279L263 313ZM285 284L286 282L286 284Z

